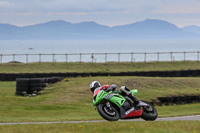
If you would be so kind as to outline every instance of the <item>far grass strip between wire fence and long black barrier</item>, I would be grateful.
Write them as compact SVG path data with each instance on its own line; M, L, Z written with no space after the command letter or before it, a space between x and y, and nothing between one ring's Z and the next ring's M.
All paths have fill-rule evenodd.
M137 63L5 63L0 73L52 73L52 72L128 72L170 71L200 69L197 61L137 62Z

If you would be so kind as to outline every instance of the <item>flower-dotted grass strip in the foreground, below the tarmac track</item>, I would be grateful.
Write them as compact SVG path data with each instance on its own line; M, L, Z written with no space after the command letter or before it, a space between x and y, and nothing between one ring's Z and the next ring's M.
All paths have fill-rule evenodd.
M199 133L200 121L4 125L2 133Z

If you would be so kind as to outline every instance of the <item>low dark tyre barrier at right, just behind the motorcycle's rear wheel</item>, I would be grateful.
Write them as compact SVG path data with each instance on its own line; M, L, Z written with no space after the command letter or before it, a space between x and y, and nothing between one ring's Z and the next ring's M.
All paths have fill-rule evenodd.
M200 103L200 95L157 97L161 105Z

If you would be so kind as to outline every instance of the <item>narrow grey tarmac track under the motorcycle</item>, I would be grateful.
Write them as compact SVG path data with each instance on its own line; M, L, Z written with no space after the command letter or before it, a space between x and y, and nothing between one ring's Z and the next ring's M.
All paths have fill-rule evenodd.
M156 121L200 121L200 115L180 116L180 117L166 117L158 118ZM142 119L130 119L120 121L144 121ZM18 122L18 123L0 123L0 125L27 125L27 124L56 124L56 123L89 123L89 122L107 122L106 120L93 121L56 121L56 122Z

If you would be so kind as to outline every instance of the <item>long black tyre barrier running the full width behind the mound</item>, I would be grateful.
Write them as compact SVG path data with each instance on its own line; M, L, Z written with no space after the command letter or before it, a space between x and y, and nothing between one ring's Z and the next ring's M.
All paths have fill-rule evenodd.
M17 78L48 78L48 77L89 77L89 76L147 76L147 77L197 77L199 70L180 71L135 71L135 72L88 72L88 73L0 73L0 81L15 81Z

